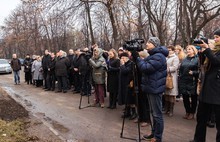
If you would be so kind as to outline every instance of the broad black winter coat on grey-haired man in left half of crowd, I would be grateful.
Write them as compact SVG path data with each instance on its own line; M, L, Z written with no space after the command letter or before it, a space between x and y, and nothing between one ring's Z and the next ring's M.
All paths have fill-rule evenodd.
M67 57L59 58L55 64L56 76L67 76L67 70L69 67L70 67L70 62Z

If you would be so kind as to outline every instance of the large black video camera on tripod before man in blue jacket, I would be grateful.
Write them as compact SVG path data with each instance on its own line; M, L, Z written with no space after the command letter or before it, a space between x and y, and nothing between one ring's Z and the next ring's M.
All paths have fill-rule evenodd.
M144 43L143 39L133 39L125 41L123 48L128 51L142 51L142 44Z

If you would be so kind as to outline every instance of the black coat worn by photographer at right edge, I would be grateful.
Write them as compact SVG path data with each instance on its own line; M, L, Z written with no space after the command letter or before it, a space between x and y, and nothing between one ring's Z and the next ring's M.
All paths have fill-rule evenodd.
M209 59L210 65L205 72L199 99L204 103L220 105L220 52L214 55L211 49L206 49L203 54Z

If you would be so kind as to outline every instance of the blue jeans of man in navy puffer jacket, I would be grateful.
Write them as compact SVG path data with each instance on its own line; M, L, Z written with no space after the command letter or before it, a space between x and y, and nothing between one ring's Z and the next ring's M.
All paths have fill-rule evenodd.
M164 121L162 113L162 94L148 94L149 105L153 115L152 134L157 140L162 140Z

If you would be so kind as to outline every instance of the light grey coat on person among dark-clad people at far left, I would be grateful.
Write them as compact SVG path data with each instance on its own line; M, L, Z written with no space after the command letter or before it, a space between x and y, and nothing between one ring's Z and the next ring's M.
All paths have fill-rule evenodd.
M34 73L34 80L43 80L43 69L41 61L35 60L32 64L31 71Z

